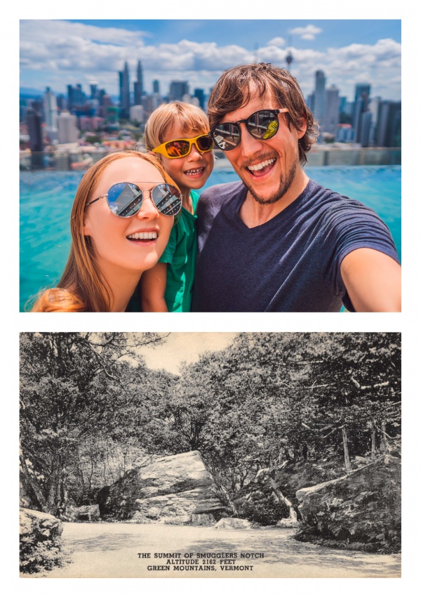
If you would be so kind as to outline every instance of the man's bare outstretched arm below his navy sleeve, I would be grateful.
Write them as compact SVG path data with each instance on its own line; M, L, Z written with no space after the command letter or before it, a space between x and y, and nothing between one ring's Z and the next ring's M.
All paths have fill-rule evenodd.
M401 311L401 266L390 256L356 249L342 260L340 273L356 312Z

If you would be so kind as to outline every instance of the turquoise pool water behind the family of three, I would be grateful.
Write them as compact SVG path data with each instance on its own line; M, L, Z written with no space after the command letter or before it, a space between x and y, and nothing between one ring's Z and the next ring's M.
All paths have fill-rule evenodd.
M376 211L391 230L401 257L401 166L307 167L306 173ZM81 176L75 171L20 173L20 311L40 289L55 286L60 279L70 247L70 211ZM232 170L218 170L204 187L237 179Z

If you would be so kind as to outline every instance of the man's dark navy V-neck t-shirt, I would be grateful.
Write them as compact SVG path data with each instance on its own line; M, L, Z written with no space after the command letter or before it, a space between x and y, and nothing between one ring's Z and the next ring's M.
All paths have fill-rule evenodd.
M246 193L239 181L201 194L192 311L354 311L342 259L371 248L399 262L389 229L361 202L309 180L286 209L248 228L239 216Z

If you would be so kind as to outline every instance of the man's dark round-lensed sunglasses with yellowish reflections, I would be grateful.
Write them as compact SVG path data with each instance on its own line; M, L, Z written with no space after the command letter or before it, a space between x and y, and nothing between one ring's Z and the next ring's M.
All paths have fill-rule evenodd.
M251 136L259 140L269 140L278 131L278 114L288 111L286 107L282 110L259 110L246 119L236 121L235 124L229 121L224 124L218 124L212 128L210 136L212 136L213 142L218 148L222 150L233 150L241 143L240 124L244 123Z

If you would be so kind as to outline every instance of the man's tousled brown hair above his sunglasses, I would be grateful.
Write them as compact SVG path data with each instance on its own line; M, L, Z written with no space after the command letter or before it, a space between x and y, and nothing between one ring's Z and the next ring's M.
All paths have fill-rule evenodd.
M214 128L227 114L247 105L257 96L272 94L280 107L287 107L284 114L288 126L302 129L305 119L307 131L298 140L300 163L307 162L307 152L319 136L319 125L307 107L297 79L283 68L272 64L246 64L226 70L218 79L208 100L210 129Z

